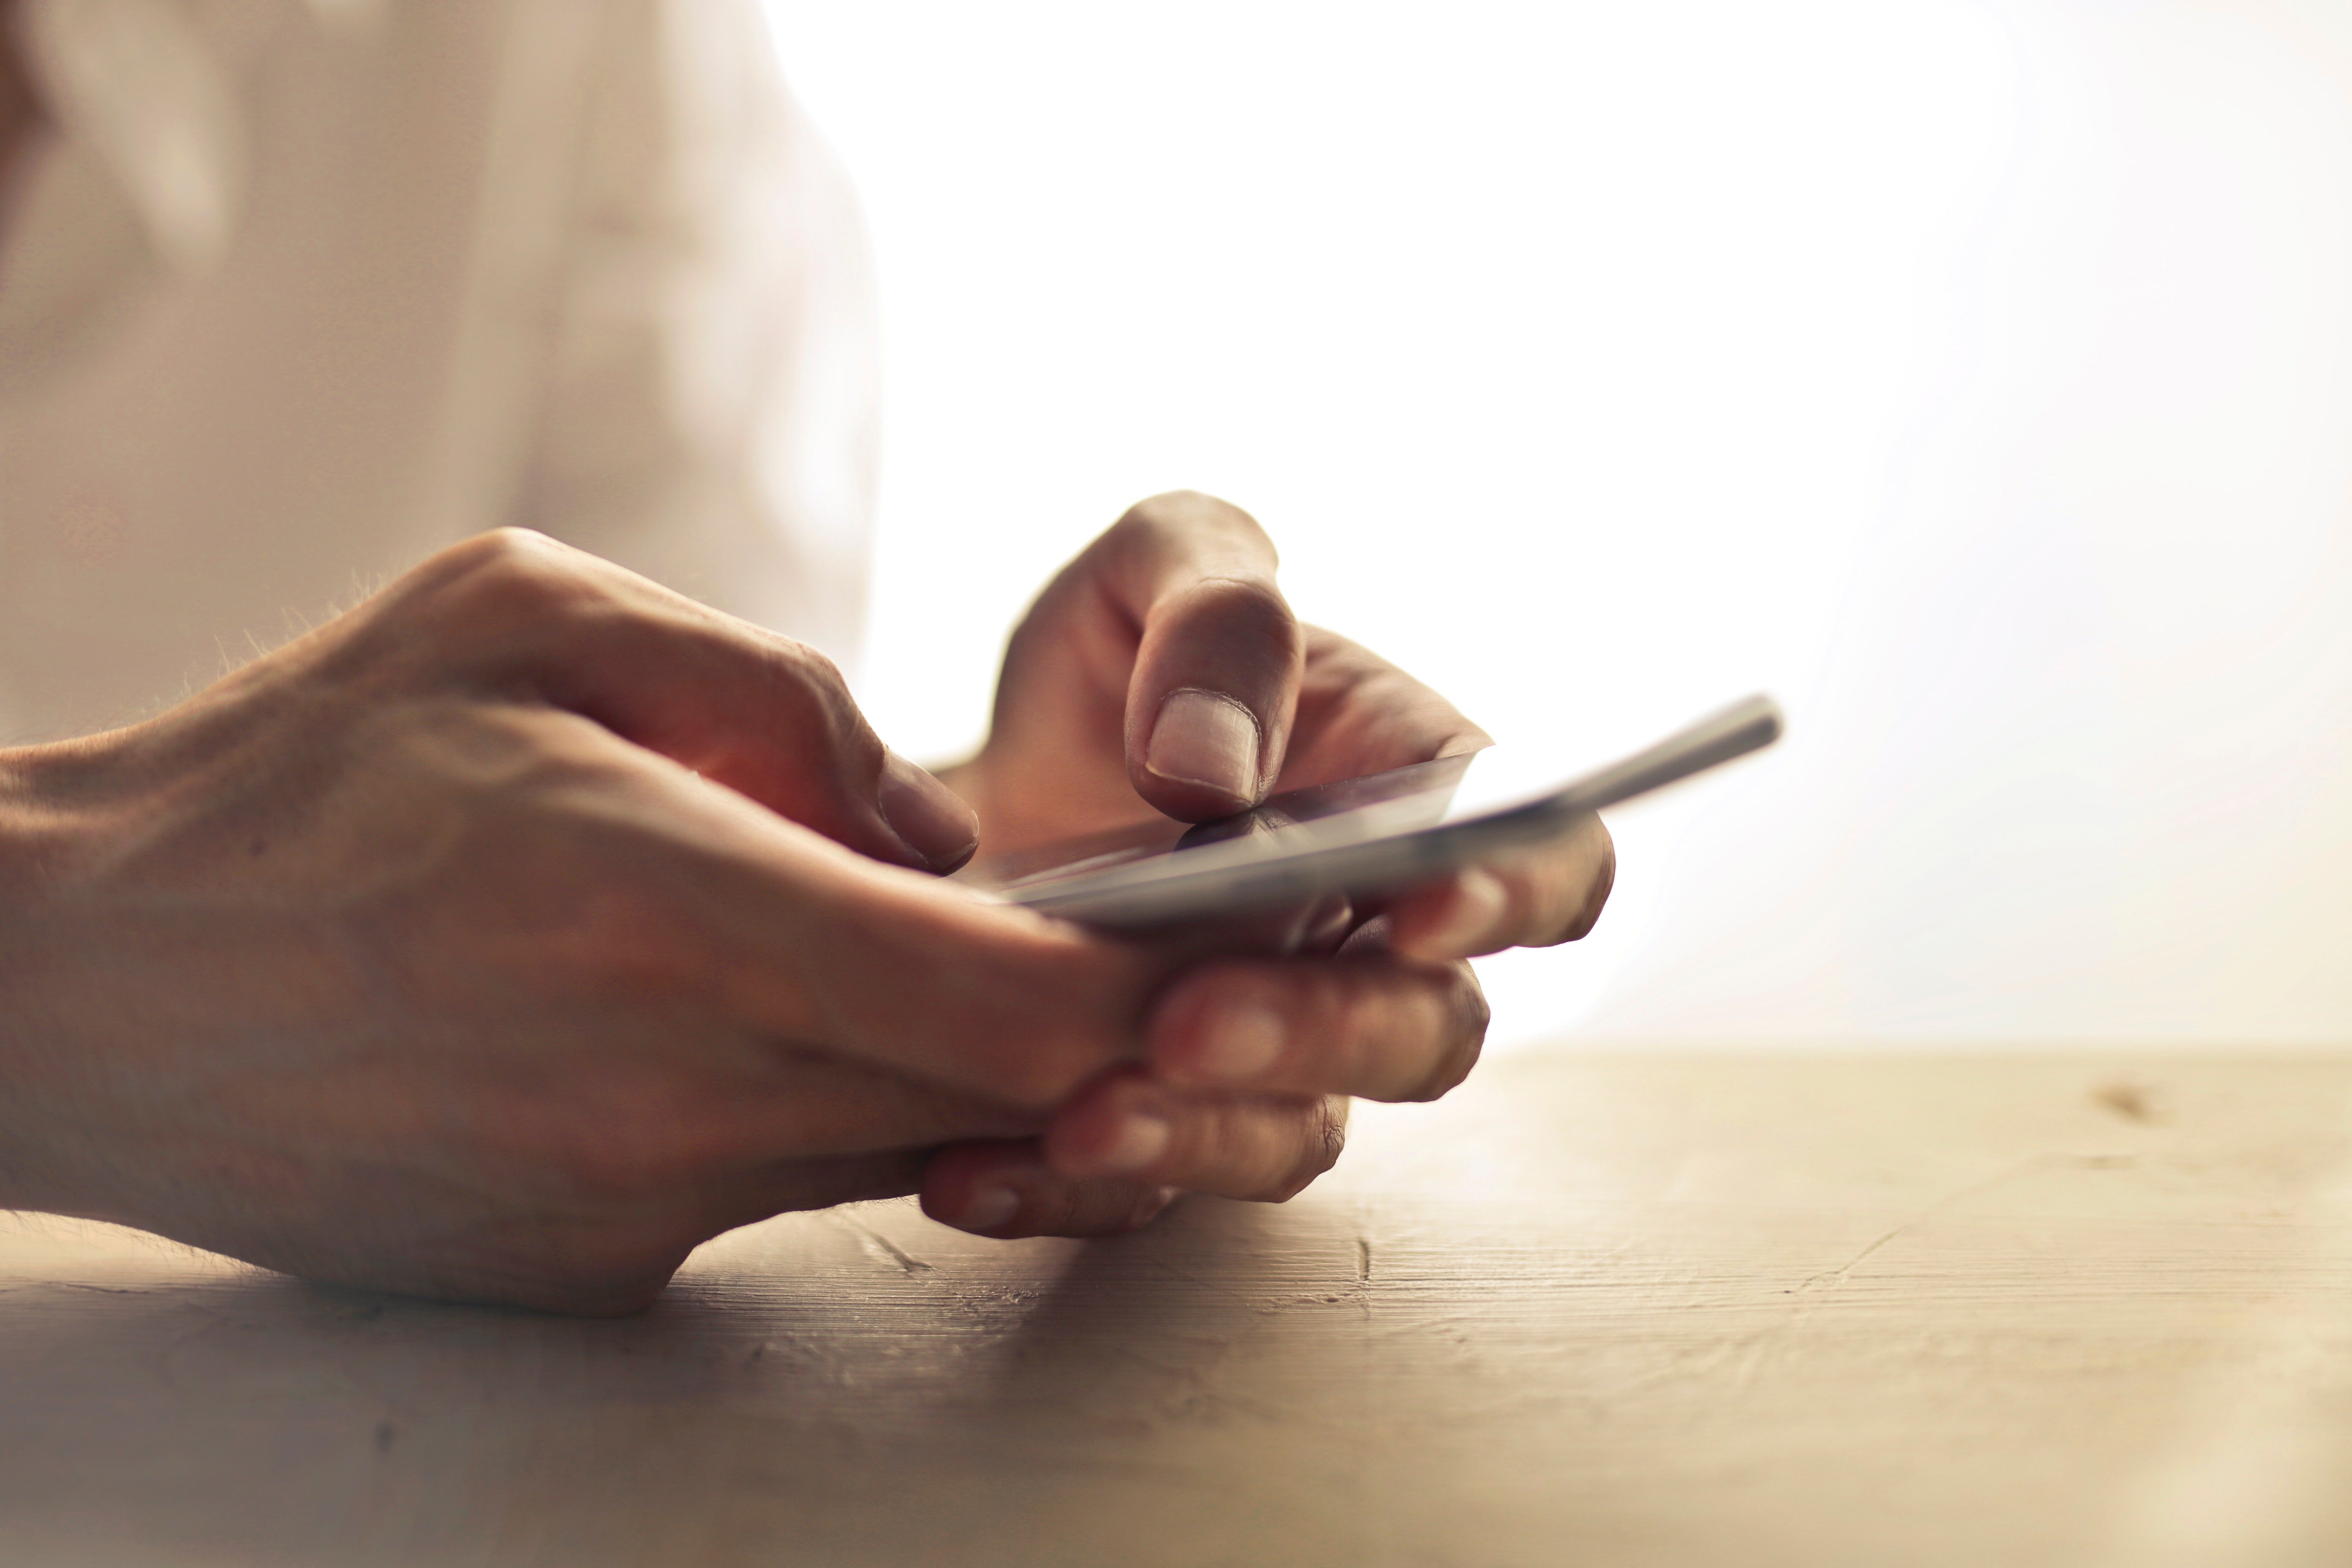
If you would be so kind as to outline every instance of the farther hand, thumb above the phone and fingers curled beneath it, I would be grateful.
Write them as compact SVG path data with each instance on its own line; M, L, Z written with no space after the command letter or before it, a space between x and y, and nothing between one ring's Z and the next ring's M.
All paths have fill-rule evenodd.
M1007 649L988 745L946 778L995 856L1486 743L1414 677L1301 625L1256 520L1178 491L1131 508L1047 585ZM1080 1091L1042 1140L948 1150L924 1208L1014 1237L1131 1229L1171 1190L1287 1199L1338 1157L1345 1095L1432 1100L1470 1072L1486 1004L1463 959L1581 938L1613 870L1588 818L1355 910L1376 919L1334 957L1192 966L1152 1013L1143 1067Z

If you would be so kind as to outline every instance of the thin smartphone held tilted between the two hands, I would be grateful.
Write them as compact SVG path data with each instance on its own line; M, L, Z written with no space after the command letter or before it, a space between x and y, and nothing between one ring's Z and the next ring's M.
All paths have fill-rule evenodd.
M1508 860L1602 806L1745 757L1780 738L1752 696L1621 762L1526 788L1505 748L1270 795L1216 823L1152 820L983 858L957 877L1087 926L1148 931L1364 896Z

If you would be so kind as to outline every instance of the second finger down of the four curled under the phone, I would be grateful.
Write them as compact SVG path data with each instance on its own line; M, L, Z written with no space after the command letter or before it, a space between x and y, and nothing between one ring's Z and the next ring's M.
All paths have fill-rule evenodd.
M1148 1060L1183 1088L1435 1100L1486 1039L1468 964L1378 945L1331 959L1237 959L1178 978L1148 1027Z

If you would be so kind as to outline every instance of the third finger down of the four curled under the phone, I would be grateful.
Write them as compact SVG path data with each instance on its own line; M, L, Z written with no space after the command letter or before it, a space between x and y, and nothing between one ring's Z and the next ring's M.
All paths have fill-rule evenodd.
M1138 1070L1082 1088L1044 1133L1044 1159L1073 1180L1214 1192L1282 1204L1338 1161L1343 1095L1181 1091Z

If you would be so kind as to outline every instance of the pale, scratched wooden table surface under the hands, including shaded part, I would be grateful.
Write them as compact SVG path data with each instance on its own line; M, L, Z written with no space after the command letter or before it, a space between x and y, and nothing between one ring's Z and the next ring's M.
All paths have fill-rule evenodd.
M1282 1206L724 1237L644 1316L0 1215L108 1563L2352 1563L2352 1058L1543 1056Z

